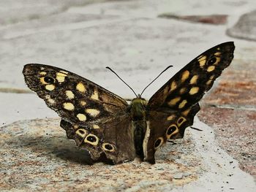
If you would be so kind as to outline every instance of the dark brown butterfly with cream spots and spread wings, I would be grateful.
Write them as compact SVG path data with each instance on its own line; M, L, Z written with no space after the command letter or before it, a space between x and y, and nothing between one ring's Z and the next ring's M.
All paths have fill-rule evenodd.
M212 47L162 85L151 98L126 100L78 74L42 64L26 64L25 82L61 117L60 126L97 161L101 155L120 164L140 157L155 163L168 139L181 139L192 126L198 101L230 65L235 46Z

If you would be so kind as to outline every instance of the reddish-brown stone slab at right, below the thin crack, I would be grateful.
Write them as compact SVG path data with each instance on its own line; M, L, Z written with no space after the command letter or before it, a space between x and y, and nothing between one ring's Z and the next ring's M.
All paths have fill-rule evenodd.
M214 128L219 145L240 162L241 169L256 178L256 112L203 107L199 118Z

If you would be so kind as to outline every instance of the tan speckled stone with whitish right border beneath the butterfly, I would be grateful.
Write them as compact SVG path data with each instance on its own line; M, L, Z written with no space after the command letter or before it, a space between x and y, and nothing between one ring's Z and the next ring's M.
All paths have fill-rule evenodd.
M176 145L167 143L157 164L131 161L91 165L89 154L65 138L58 119L21 120L0 131L1 191L253 191L252 177L214 142L200 121ZM8 153L7 153L8 151ZM232 161L232 163L230 163ZM186 174L189 172L189 174ZM211 180L211 185L208 185ZM221 182L220 182L221 180Z

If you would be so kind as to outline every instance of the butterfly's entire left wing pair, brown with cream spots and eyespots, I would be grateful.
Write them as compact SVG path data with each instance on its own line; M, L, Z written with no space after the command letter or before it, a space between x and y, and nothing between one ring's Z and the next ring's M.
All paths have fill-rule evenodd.
M115 163L134 159L131 120L124 99L54 66L27 64L23 74L29 88L62 118L67 137L89 150L91 158L96 160L105 153Z

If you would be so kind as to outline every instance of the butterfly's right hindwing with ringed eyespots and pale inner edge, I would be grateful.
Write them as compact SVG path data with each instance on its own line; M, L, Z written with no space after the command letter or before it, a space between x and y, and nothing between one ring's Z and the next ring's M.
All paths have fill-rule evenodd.
M192 126L194 117L200 110L199 104L189 107L187 112L166 109L151 110L148 114L148 136L143 145L144 160L154 164L154 153L167 139L181 139L188 126Z

